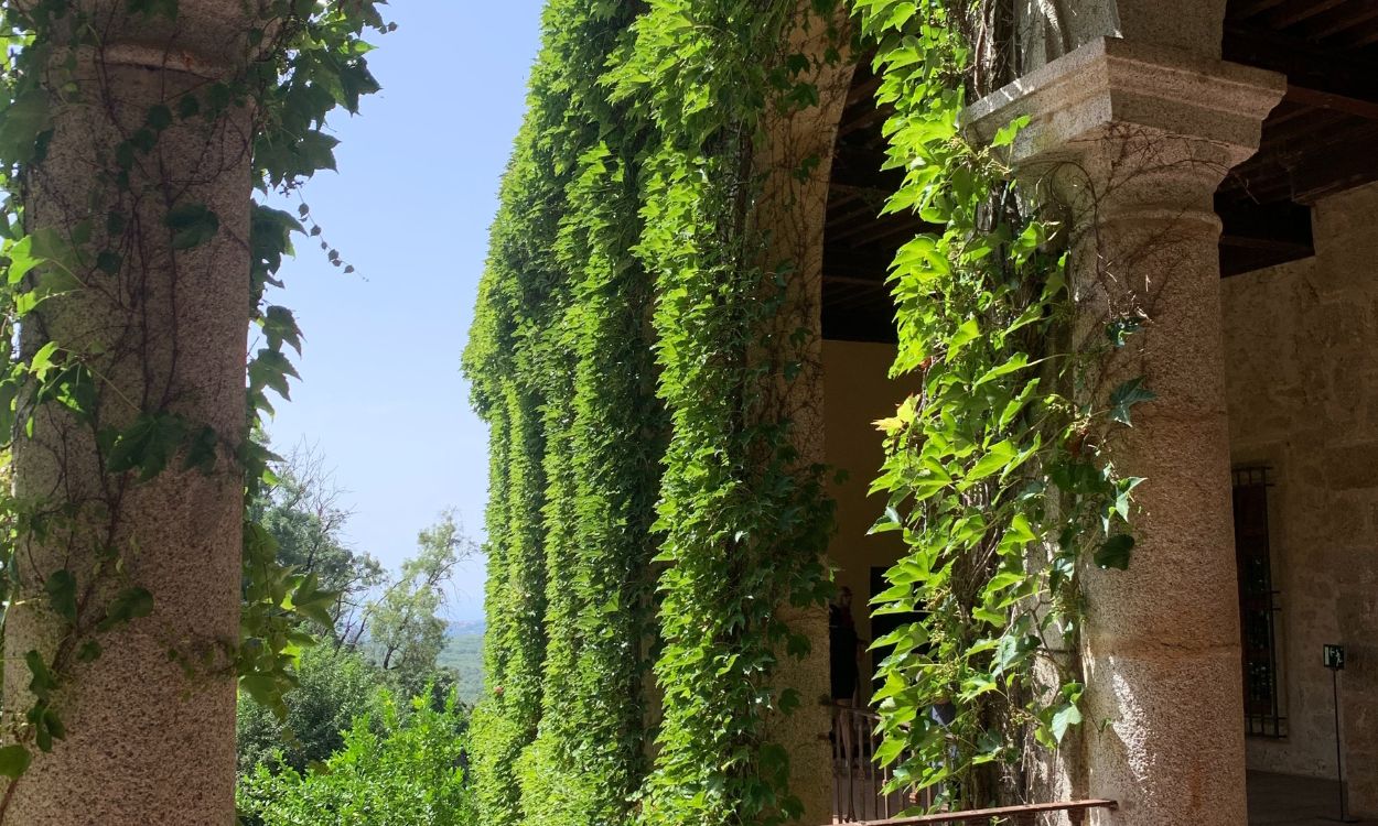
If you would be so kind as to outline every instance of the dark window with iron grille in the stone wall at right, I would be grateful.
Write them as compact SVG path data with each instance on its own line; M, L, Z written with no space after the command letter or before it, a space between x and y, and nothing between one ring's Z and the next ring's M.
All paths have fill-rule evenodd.
M1268 533L1266 467L1235 469L1235 562L1239 566L1239 628L1244 669L1244 731L1287 737L1283 687L1277 679L1279 592L1273 588Z

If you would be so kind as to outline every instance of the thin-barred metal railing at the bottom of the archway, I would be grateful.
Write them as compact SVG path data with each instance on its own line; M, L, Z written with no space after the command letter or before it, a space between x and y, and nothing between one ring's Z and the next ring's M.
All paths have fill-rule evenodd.
M1056 822L1049 819L1049 815L1065 814L1072 826L1080 826L1086 822L1086 812L1091 809L1113 811L1116 808L1113 800L1080 800L896 818L897 814L914 807L933 808L933 790L886 793L886 785L894 778L894 774L889 768L875 765L875 752L881 748L881 735L876 734L879 723L881 719L865 709L838 708L834 712L834 823L854 823L856 826L922 826L925 823L1039 826Z

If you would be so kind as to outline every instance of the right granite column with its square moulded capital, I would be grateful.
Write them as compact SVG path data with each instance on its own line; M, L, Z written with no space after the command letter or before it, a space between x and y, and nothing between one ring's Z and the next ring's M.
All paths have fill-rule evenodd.
M1280 76L1101 39L981 100L989 135L1020 114L1021 175L1067 206L1075 344L1111 318L1144 332L1083 391L1144 376L1112 458L1135 491L1127 571L1086 571L1084 765L1072 787L1120 803L1098 822L1237 826L1246 820L1237 584L1213 195L1257 150Z

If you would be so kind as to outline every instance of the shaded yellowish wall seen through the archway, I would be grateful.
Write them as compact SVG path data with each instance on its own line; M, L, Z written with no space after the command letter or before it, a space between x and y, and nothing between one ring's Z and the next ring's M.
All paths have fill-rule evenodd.
M831 468L847 472L843 483L832 483L828 489L838 502L838 533L828 555L838 569L838 584L852 588L857 633L864 640L871 639L865 604L871 595L871 567L889 567L904 548L897 533L867 536L885 511L883 496L867 497L885 458L881 432L872 423L893 416L894 407L908 395L904 383L886 377L893 361L893 344L823 343L827 461ZM867 658L861 668L863 686L870 665Z

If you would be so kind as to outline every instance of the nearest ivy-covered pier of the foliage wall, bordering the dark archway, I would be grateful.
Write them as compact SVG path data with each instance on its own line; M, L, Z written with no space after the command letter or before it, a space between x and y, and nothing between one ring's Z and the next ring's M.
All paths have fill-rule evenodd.
M653 3L616 72L619 96L642 95L661 135L645 162L638 245L657 278L659 394L671 416L659 507L664 717L648 826L805 814L773 721L819 701L779 672L810 648L787 610L825 595L831 505L776 403L803 374L814 333L780 329L803 273L799 259L773 257L758 209L772 175L808 179L817 162L773 169L762 150L772 117L819 102L814 62L838 52L792 44L802 26L828 30L834 8Z

